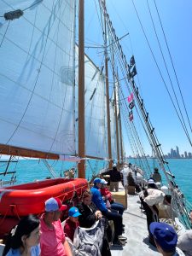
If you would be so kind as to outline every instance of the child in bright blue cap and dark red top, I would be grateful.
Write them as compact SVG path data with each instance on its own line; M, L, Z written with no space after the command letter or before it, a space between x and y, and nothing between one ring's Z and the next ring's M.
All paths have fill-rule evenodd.
M77 207L71 207L68 210L68 218L64 225L65 235L73 241L74 232L77 227L79 227L79 216L81 213Z

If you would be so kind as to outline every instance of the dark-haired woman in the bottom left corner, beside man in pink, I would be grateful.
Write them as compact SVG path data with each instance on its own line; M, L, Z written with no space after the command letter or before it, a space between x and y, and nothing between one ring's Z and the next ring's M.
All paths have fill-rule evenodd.
M29 215L21 218L18 225L9 233L3 256L40 255L40 221Z

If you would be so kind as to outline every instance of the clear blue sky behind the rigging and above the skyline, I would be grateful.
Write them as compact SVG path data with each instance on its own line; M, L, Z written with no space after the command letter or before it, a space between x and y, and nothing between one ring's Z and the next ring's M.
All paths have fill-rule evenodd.
M99 28L96 25L97 15L96 11L93 9L95 2L86 0L85 3L87 3L87 5L85 5L85 44L89 43L90 38L92 38L95 43L101 44L101 37L98 32ZM185 106L191 121L192 88L190 77L192 73L192 1L158 0L155 3L166 33L166 40L171 51L172 61L177 73L177 79L179 81ZM93 6L91 6L92 4ZM158 16L154 8L154 1L149 0L147 4L147 1L145 0L135 0L134 4L139 18L142 21L148 42L153 49L155 58L160 66L161 73L163 73L163 77L166 80L166 85L169 90L171 90L171 84L166 73L166 67L162 61L152 21L150 20L148 12L149 4L155 28L158 36L160 37L160 45L166 58L166 65L169 69L174 89L176 90L178 102L181 102L181 97L179 96L177 88L177 81L173 73L165 40L163 39L162 31L160 30ZM166 154L170 151L170 148L175 148L176 145L179 147L180 153L182 154L184 150L192 152L192 148L184 134L182 125L179 123L177 118L177 113L175 112L172 102L166 92L166 87L160 78L160 73L155 66L153 56L143 35L132 1L108 0L107 7L117 36L120 38L125 33L130 33L129 36L121 40L121 45L127 57L127 61L129 61L132 54L135 55L138 73L136 82L144 99L145 107L148 110L151 122L154 125L157 137L162 145L163 152ZM87 52L89 54L90 50L87 50ZM97 64L99 65L99 63ZM183 107L182 113L183 117L185 117ZM135 121L137 122L137 120ZM186 124L188 125L187 122ZM190 137L192 137L190 131L189 134ZM125 144L126 151L130 153L129 145L127 143ZM145 140L143 140L143 148L146 153L151 153L151 149Z

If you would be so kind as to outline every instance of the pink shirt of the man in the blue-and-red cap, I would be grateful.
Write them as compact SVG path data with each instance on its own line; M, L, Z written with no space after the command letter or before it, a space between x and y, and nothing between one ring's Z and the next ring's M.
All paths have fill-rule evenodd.
M65 234L61 227L61 220L53 222L54 230L50 230L44 223L44 214L40 218L41 221L41 256L66 256L63 243L66 240Z

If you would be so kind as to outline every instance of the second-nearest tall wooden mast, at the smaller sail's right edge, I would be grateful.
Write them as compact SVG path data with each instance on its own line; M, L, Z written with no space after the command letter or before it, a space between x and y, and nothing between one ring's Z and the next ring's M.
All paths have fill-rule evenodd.
M107 46L107 11L105 0L103 1L104 4L104 46L105 46L105 77L106 77L106 98L107 98L107 117L108 117L108 159L109 169L112 168L112 152L111 152L111 127L110 127L110 110L109 110L109 92L108 92L108 46Z

